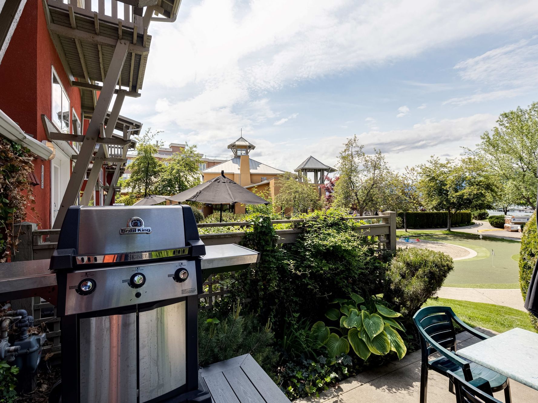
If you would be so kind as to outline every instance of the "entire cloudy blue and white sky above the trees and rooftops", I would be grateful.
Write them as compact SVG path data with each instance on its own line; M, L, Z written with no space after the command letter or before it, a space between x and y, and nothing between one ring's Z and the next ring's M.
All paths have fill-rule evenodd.
M538 2L183 0L152 23L143 95L122 114L159 138L293 170L357 134L394 169L473 147L538 100Z

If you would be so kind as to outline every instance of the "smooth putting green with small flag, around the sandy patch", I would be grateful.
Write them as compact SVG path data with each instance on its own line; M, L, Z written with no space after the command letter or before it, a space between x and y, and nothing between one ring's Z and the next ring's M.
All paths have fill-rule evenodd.
M445 280L446 286L470 288L519 288L519 268L516 256L521 242L454 231L397 231L397 236L410 236L465 246L477 256L454 262L454 270ZM495 256L493 263L491 250Z

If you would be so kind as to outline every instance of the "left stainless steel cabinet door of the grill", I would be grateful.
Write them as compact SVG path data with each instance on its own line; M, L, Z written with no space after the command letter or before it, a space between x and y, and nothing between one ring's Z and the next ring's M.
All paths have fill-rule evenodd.
M79 351L81 403L137 401L136 313L81 319Z

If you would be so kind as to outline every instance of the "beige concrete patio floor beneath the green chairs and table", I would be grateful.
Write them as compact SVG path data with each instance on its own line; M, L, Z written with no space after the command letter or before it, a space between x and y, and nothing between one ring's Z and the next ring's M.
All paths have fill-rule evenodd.
M490 330L477 328L480 332L494 335ZM478 342L469 333L460 333L457 337L458 348ZM337 387L325 391L320 398L295 400L296 403L419 403L420 396L421 353L414 351L401 361L391 362L381 368L360 373L356 377L345 379ZM518 403L537 402L538 391L525 385L510 381L512 401ZM502 392L495 393L495 398L505 401ZM430 403L456 402L456 397L448 391L448 378L430 371L428 381L428 401Z

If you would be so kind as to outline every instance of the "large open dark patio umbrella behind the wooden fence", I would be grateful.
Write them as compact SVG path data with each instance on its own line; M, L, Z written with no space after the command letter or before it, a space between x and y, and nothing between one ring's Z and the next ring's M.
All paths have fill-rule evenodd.
M223 204L269 204L267 200L254 195L250 190L233 182L224 176L224 171L216 178L194 186L177 195L170 196L168 200L173 202L200 202L221 205L221 222L222 222L222 205Z

